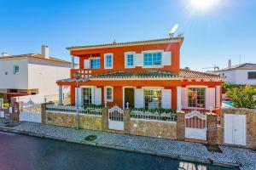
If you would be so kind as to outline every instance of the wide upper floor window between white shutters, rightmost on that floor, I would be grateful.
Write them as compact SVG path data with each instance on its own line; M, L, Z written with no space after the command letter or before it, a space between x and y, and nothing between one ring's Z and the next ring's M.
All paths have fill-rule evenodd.
M162 53L144 53L144 66L162 65Z

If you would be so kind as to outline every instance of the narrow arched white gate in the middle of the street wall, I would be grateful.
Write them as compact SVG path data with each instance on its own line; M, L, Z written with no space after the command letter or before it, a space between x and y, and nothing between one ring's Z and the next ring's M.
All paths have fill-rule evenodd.
M108 109L108 128L111 130L124 130L124 111L117 105Z

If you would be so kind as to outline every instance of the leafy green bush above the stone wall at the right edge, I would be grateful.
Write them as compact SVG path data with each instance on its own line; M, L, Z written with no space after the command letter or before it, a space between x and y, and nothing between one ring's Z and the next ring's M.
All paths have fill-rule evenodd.
M228 88L226 96L232 99L235 107L256 109L256 88L251 86Z

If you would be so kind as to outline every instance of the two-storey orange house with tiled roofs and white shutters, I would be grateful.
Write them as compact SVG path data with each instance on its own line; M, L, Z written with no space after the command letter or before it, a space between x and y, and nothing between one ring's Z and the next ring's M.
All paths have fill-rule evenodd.
M180 69L182 44L183 37L172 37L67 48L72 63L79 57L79 69L72 64L70 78L57 82L60 94L61 86L71 86L71 102L79 106L218 109L222 77Z

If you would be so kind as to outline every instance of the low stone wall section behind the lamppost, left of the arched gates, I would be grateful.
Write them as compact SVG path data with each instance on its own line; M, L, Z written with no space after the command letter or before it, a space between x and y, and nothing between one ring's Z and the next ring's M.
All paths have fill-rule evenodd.
M46 112L45 123L61 127L75 127L76 114ZM79 115L79 127L90 130L102 130L102 116Z

